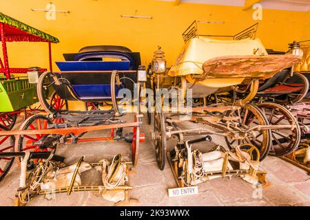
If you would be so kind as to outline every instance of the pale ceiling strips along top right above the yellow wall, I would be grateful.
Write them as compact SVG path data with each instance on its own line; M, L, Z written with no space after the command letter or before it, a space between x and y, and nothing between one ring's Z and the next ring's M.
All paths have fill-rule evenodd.
M174 1L174 0L160 0ZM242 7L246 0L180 0L188 3L202 3L209 5L231 5ZM310 0L262 0L262 8L275 10L289 10L307 12L310 10Z

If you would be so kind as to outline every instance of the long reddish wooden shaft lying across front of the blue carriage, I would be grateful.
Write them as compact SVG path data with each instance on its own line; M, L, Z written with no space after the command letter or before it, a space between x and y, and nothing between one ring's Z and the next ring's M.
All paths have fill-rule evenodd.
M67 135L68 133L74 133L74 135L80 135L81 133L89 131L100 131L105 129L119 129L140 126L140 122L129 122L124 124L101 124L96 126L83 126L65 129L43 129L43 130L21 130L21 131L1 131L0 136L6 135Z

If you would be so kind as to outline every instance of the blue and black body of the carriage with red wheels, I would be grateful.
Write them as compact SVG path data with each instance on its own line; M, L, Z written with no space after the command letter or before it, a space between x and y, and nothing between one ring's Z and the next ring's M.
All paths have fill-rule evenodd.
M110 82L113 71L118 71L121 86L129 89L134 96L134 83L137 83L137 70L141 65L139 52L132 52L121 46L83 47L77 54L63 54L65 62L56 62L61 72L56 73L62 84L53 87L65 100L102 102L110 100ZM114 58L118 61L103 61ZM121 97L116 97L121 98Z

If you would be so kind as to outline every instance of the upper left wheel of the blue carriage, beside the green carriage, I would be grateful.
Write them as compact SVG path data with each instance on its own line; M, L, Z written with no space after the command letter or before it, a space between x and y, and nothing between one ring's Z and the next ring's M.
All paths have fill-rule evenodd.
M47 78L52 75L53 74L50 72L43 73L39 77L37 84L37 94L39 101L41 102L43 109L50 114L54 114L57 111L68 109L68 101L61 99L61 97L56 94L56 91L54 91L54 80L52 82L50 82L50 80L47 80ZM52 94L50 98L47 98L48 94Z

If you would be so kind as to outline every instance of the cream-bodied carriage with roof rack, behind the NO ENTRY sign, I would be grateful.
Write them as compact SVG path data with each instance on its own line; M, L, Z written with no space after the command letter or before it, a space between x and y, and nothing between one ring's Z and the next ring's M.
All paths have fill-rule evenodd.
M180 187L231 175L257 183L264 175L258 172L259 162L270 152L283 153L274 148L271 131L300 131L295 118L289 118L287 124L269 124L273 121L273 114L267 115L269 105L249 103L256 97L262 80L301 60L293 53L268 55L260 40L255 39L256 29L254 25L229 36L233 39L218 40L213 35L198 34L194 22L183 33L185 47L171 68L165 67L160 48L154 54L148 72L148 85L156 91L152 140L158 167L165 168L167 155ZM165 94L164 89L174 91ZM242 91L247 92L240 98L237 93ZM172 107L174 102L177 107L167 111L165 107ZM207 136L193 137L200 135ZM210 141L210 135L224 137L229 150L223 146L214 146L207 153L192 150L192 144ZM167 152L172 138L176 145ZM291 137L289 148L298 138L298 133Z

